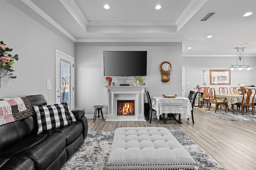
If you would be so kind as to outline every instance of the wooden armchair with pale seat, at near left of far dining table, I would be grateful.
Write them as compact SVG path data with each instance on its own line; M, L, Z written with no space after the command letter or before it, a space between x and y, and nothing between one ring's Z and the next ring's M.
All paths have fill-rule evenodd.
M211 104L215 104L215 112L217 111L219 105L226 106L225 112L227 112L228 104L226 102L227 98L218 98L215 96L215 89L214 88L208 88L208 94L209 94L209 109L211 107Z

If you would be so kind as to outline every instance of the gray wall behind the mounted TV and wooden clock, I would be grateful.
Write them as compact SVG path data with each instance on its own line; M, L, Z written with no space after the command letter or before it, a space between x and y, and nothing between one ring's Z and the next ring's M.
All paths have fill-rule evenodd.
M93 114L92 106L98 104L103 104L103 111L107 113L108 97L104 87L106 82L103 51L147 51L147 76L143 78L146 80L146 90L150 92L150 96L181 96L182 43L76 43L75 107L86 109L86 114ZM163 61L172 64L169 82L161 81L160 64ZM117 84L124 84L124 77L115 78ZM125 84L132 83L133 77L128 76Z

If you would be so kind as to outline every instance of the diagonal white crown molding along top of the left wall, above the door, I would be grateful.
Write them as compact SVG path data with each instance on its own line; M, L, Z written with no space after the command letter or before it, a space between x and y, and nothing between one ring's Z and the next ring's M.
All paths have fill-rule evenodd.
M56 27L60 32L62 32L64 35L66 35L68 38L70 38L72 41L76 41L75 37L73 37L66 29L64 29L62 26L60 26L56 21L54 21L50 16L48 16L43 10L41 10L36 4L34 4L31 0L21 0L26 4L28 7L30 7L32 10L34 10L37 14L42 16L46 21L51 23L54 27Z

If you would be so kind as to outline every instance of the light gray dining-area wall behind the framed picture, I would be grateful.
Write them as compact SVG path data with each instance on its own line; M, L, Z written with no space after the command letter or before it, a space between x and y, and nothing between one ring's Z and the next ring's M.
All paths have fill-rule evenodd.
M234 49L234 53L236 53ZM236 64L236 57L183 57L182 66L185 67L185 96L196 85L214 87L219 94L220 87L237 87L238 84L256 86L256 57L244 57L244 64L250 64L251 70L231 70L230 85L210 85L210 70L226 70ZM207 70L207 85L203 85L203 70ZM190 84L187 84L190 82ZM196 91L196 90L195 90ZM196 102L196 104L198 104Z

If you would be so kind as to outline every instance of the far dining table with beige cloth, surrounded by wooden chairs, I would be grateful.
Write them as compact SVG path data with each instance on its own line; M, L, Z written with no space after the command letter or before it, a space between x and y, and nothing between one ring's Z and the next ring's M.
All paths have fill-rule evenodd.
M233 109L233 114L234 114L234 104L236 103L241 103L243 99L242 94L215 94L217 98L226 98L226 102L228 104L228 108ZM244 98L247 96L244 95ZM245 101L244 101L245 102ZM250 97L250 103L252 102L252 97ZM256 98L254 98L254 103L256 103Z

